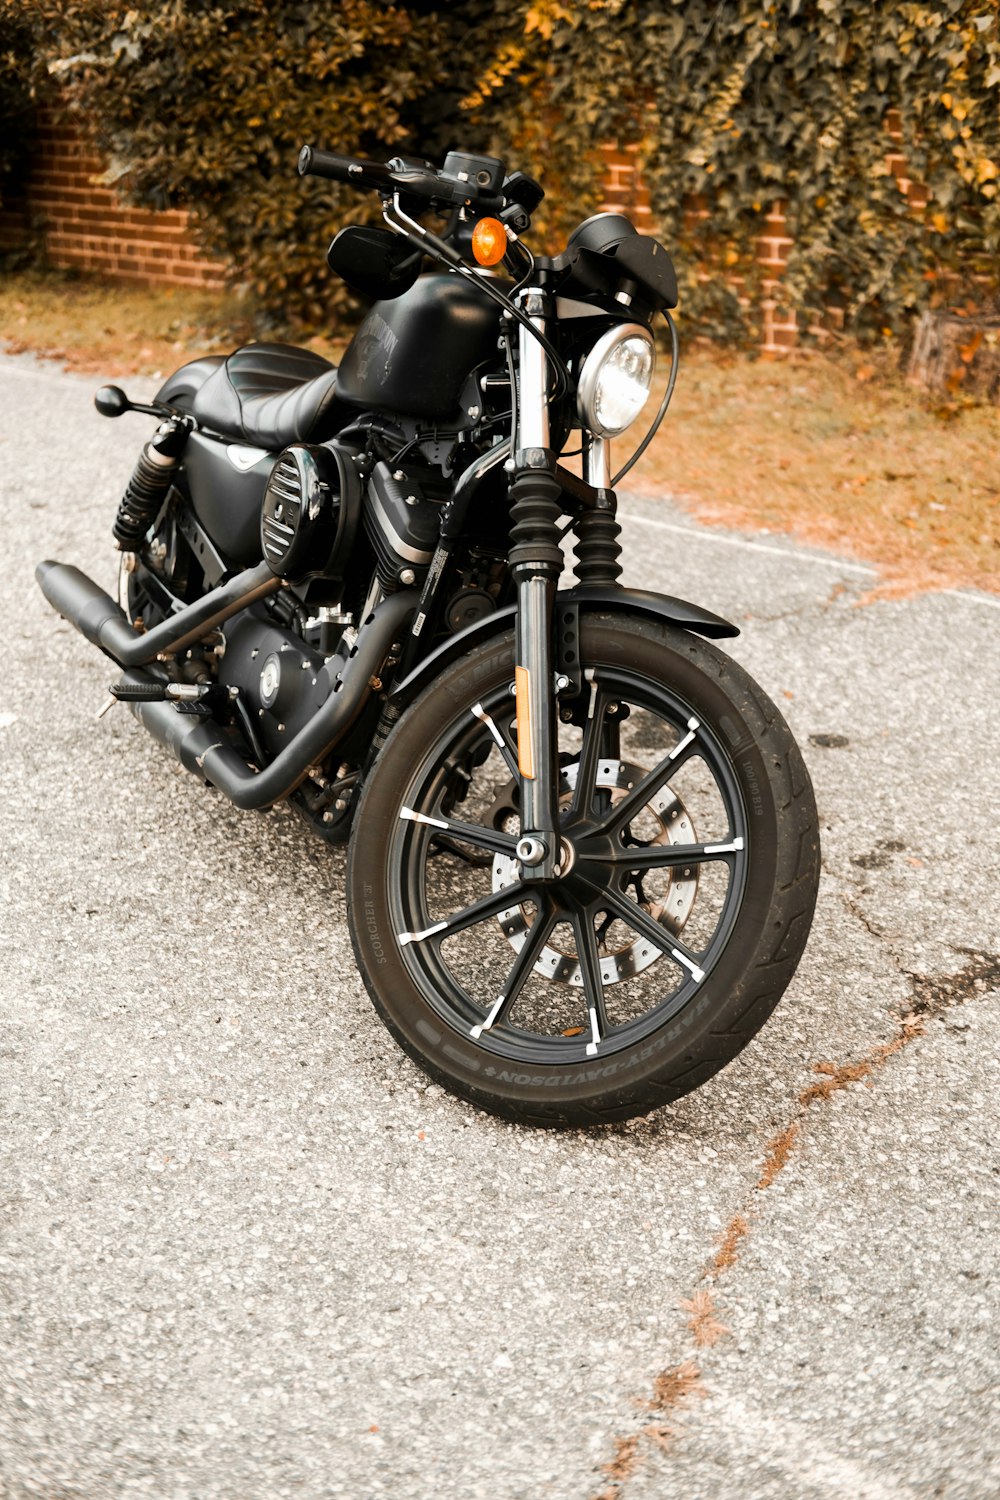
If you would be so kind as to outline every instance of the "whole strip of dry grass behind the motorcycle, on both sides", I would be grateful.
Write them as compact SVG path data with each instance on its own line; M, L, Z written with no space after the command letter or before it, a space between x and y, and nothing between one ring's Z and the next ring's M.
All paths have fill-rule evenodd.
M37 270L0 280L0 346L105 378L165 376L253 336L232 296ZM309 346L331 358L340 348ZM888 360L694 350L628 486L678 495L708 524L865 558L882 572L879 592L1000 591L999 452L999 408L933 405Z

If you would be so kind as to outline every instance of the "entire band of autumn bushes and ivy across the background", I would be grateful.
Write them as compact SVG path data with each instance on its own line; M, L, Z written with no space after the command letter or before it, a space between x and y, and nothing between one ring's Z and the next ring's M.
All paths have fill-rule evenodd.
M280 321L325 316L318 246L363 206L303 186L306 140L493 148L547 186L552 246L601 201L603 142L634 147L685 324L730 340L760 340L775 278L801 328L832 308L874 338L996 286L1000 0L6 0L0 16L21 56L30 36L4 69L0 28L0 118L4 90L22 108L25 80L54 76L127 194L193 208L204 252ZM762 237L781 240L771 266Z

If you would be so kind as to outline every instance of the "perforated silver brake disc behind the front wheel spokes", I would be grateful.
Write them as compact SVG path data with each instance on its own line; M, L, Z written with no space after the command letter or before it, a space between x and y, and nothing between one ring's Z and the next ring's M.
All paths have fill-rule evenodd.
M615 804L619 802L627 795L628 789L636 786L643 776L645 771L642 766L630 765L627 760L600 760L597 766L597 789L607 792L612 804ZM562 768L559 776L561 806L570 802L576 788L576 764ZM694 824L691 822L684 802L669 788L657 792L657 795L651 798L651 801L646 802L640 812L652 814L655 822L660 825L660 831L648 840L651 846L697 843ZM699 884L697 866L664 868L661 874L666 876L667 880L666 891L661 898L655 902L645 902L642 904L643 910L646 910L654 921L658 921L667 932L676 936L687 922L691 915L691 908L694 906ZM517 860L498 854L493 860L493 890L502 891L508 885L516 885L519 882L519 876L520 868ZM525 945L531 921L531 908L522 903L507 908L507 910L502 910L498 916L504 936L517 952ZM621 948L609 950L606 944L601 944L600 956L601 980L604 984L618 984L621 980L630 980L634 974L642 974L643 969L648 969L651 963L655 963L657 958L661 957L661 952L645 938L636 936L631 942L624 944ZM580 962L576 951L556 948L550 944L546 944L541 950L535 962L535 974L540 974L543 978L550 980L555 984L576 984L580 988L583 987L583 975L580 972Z

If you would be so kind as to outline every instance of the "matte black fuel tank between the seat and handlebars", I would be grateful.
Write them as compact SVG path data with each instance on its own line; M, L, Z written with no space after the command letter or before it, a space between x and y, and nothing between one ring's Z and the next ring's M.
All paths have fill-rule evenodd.
M496 352L498 320L496 303L466 278L421 276L402 297L369 310L337 369L337 396L468 426L462 387Z

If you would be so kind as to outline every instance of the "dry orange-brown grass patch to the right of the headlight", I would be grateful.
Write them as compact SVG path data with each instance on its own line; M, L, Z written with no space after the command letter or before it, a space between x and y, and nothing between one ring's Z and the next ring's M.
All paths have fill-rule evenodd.
M888 360L699 350L630 482L703 522L874 562L880 594L999 591L999 408L936 405Z

